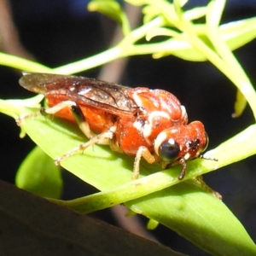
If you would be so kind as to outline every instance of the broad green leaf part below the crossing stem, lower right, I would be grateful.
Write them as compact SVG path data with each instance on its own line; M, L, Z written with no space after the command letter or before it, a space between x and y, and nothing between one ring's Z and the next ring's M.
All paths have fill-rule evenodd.
M256 255L253 241L228 207L196 189L191 182L179 183L125 205L213 255Z

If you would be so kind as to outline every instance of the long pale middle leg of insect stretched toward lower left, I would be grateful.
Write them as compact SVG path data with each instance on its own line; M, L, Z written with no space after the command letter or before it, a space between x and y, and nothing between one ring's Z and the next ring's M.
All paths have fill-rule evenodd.
M73 148L72 150L68 151L66 154L63 154L60 157L56 158L55 165L56 166L60 165L62 160L67 159L71 155L75 154L77 151L84 151L84 149L90 147L91 145L94 145L94 144L106 145L107 143L109 143L109 140L113 139L113 136L114 134L113 134L113 131L111 130L105 131L101 134L97 134L95 137L92 137L90 141L80 144L78 147Z

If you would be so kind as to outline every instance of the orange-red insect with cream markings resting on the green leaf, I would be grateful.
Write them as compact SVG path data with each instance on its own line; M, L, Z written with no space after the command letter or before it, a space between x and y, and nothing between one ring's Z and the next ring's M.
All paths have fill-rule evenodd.
M186 161L202 158L208 137L200 121L188 124L185 108L166 90L129 88L84 77L24 73L20 85L44 94L53 114L79 125L89 141L55 160L59 165L93 144L109 145L113 151L135 156L132 179L139 175L142 158L163 168L179 163L178 179L186 173ZM30 117L20 117L18 124Z

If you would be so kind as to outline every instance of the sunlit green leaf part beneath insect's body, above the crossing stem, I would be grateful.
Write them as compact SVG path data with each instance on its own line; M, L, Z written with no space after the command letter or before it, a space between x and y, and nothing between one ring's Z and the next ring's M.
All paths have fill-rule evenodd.
M38 116L36 119L26 119L22 128L53 159L87 141L77 125L69 124L57 118L51 120ZM122 183L131 180L132 160L126 157L126 160L129 159L130 163L125 163L122 168L124 171L121 175ZM112 154L106 146L94 145L86 148L84 153L79 152L62 161L61 166L69 171L72 170L73 174L98 189L103 189L104 186L105 189L109 189L113 187L114 183L116 185L120 184L120 180L115 177L119 176L117 165L121 163L122 160L119 158L119 154ZM108 178L106 179L106 177ZM101 183L104 185L101 186Z

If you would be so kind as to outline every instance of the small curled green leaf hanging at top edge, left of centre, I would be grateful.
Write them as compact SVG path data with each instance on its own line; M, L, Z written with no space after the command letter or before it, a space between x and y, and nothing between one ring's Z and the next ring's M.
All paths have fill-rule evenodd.
M92 0L87 8L90 11L97 11L115 20L122 27L124 35L131 32L129 20L121 5L115 0Z

